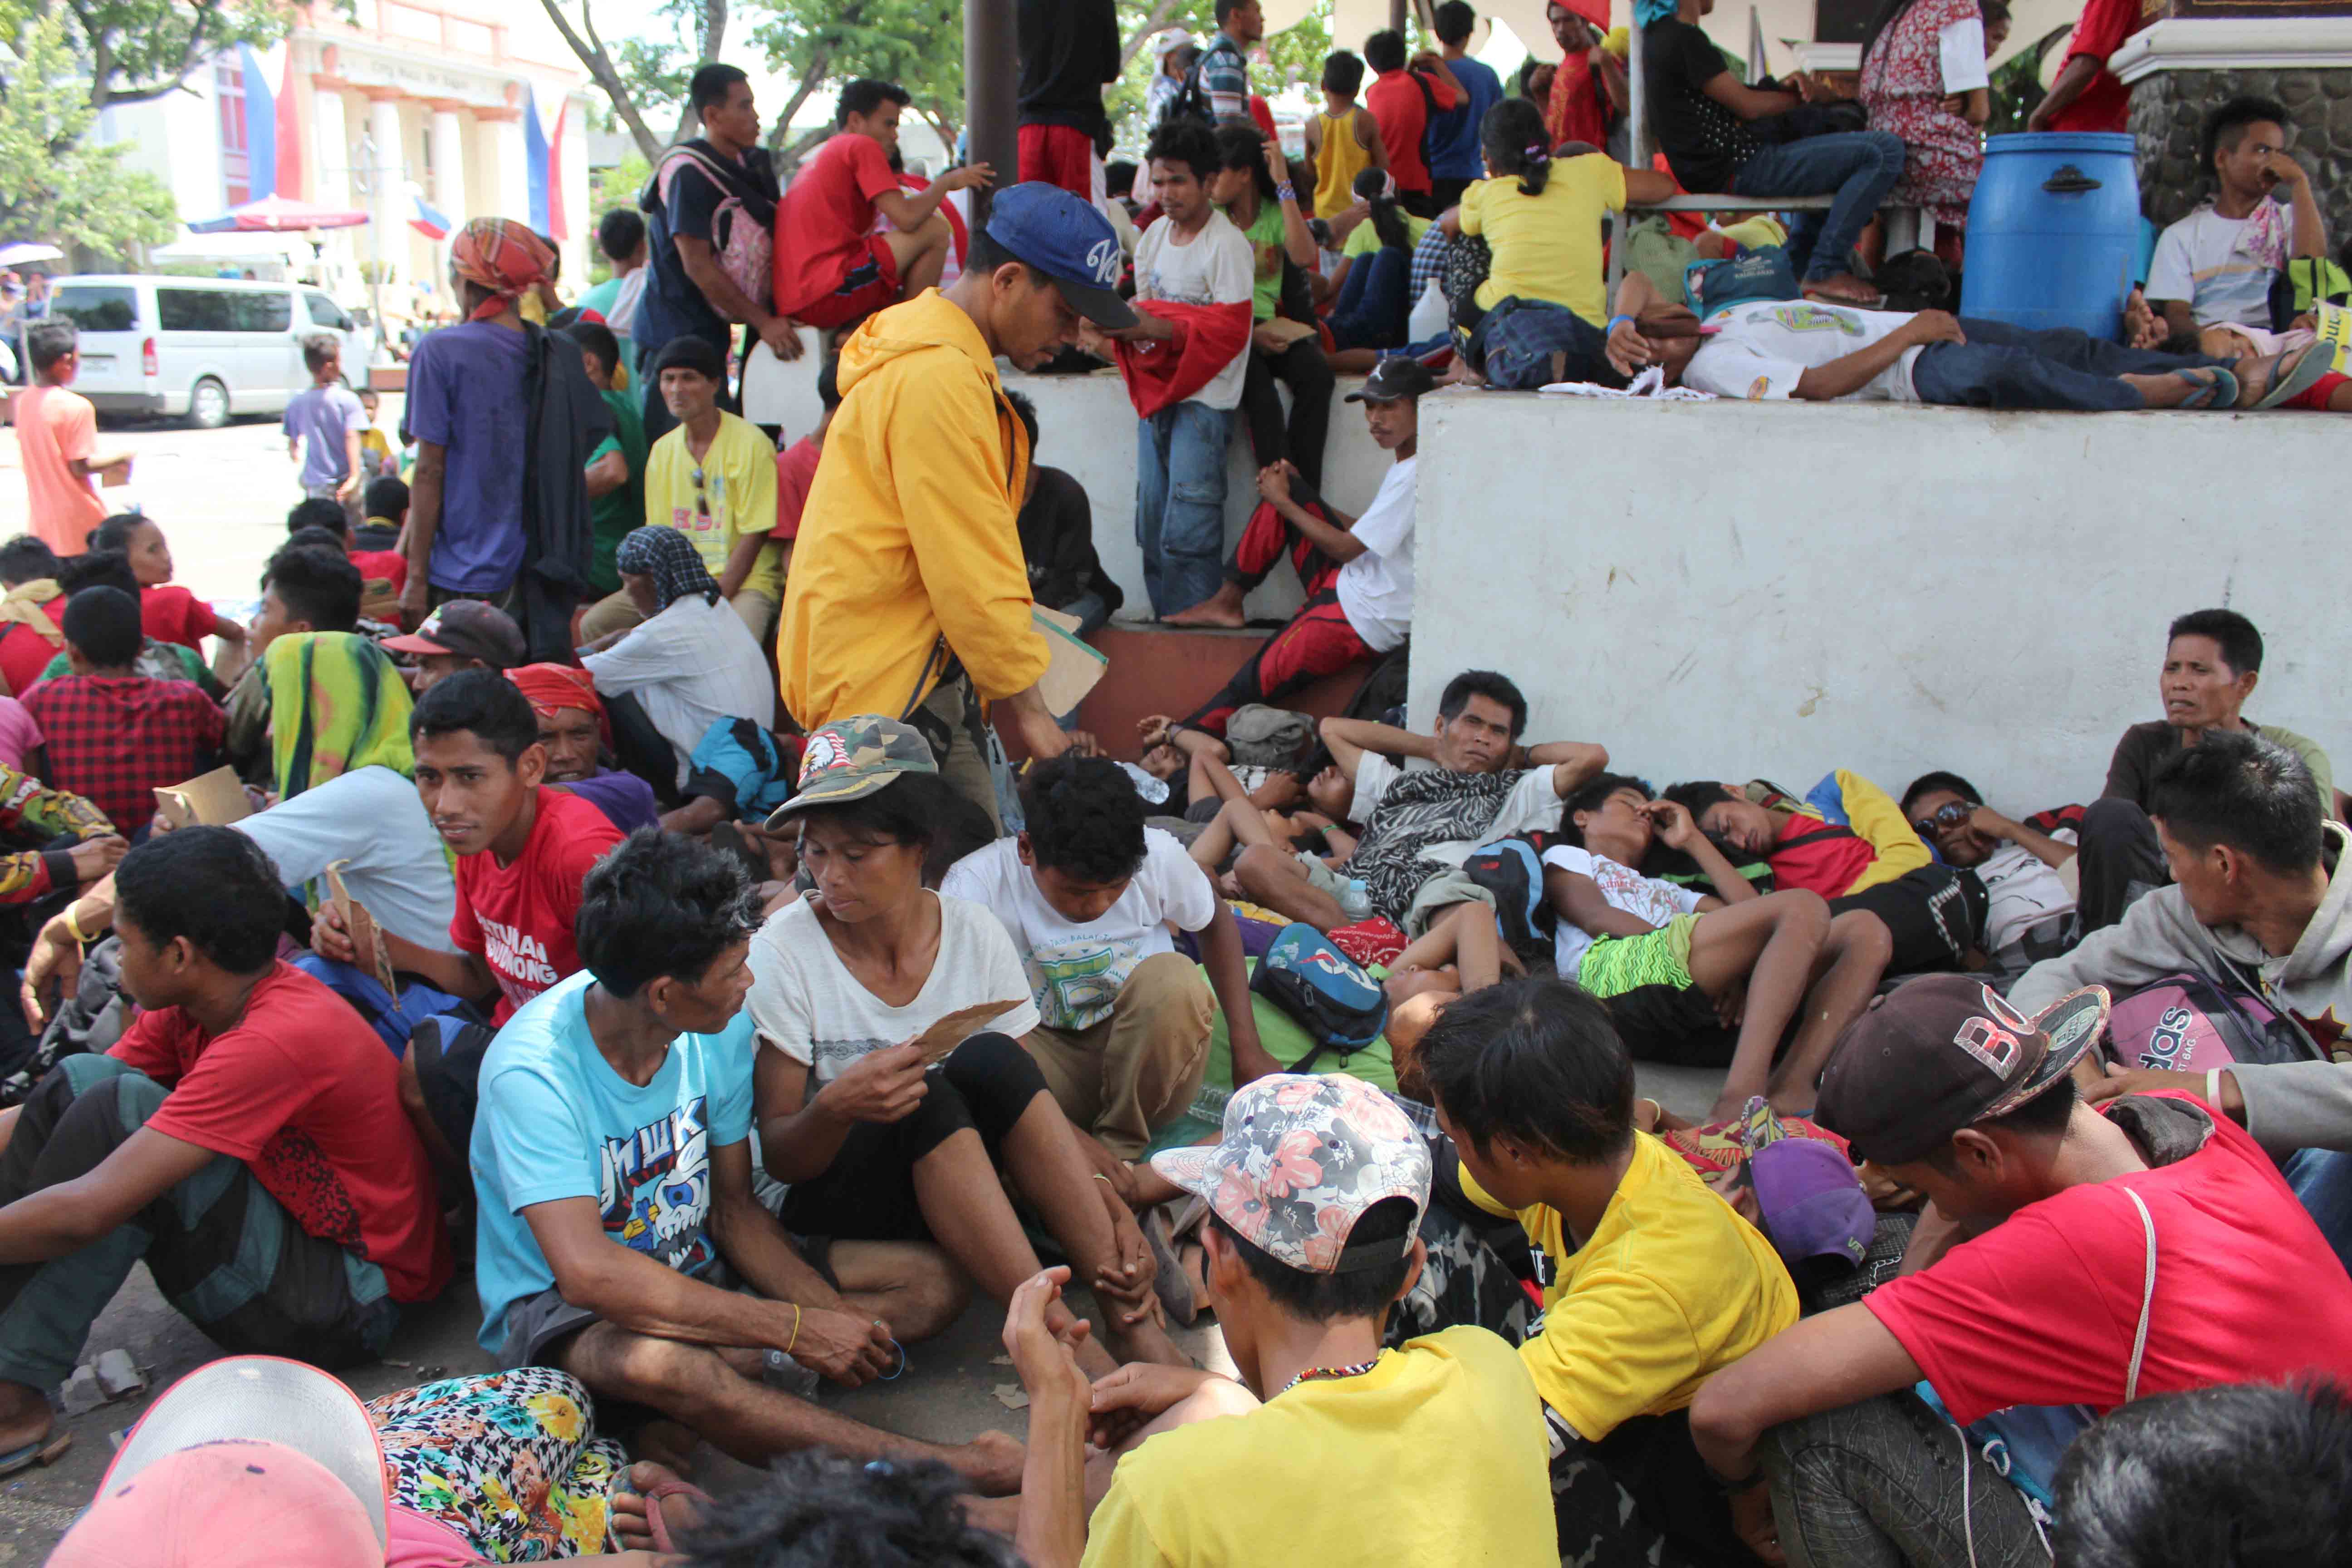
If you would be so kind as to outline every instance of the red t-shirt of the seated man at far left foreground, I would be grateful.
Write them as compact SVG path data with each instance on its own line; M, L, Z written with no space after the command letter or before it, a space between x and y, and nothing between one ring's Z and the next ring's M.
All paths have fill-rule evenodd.
M148 1128L252 1166L306 1237L381 1267L393 1300L430 1300L449 1284L400 1063L332 990L273 964L216 1039L172 1006L141 1013L108 1056L169 1091Z

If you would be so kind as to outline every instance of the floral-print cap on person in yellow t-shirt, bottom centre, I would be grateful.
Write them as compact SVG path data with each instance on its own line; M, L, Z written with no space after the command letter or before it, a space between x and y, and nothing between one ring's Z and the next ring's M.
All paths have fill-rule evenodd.
M1430 1206L1430 1147L1388 1095L1348 1077L1275 1072L1225 1100L1216 1147L1152 1154L1152 1171L1209 1199L1237 1237L1303 1274L1355 1274L1414 1251ZM1397 1241L1348 1246L1383 1199L1411 1199Z

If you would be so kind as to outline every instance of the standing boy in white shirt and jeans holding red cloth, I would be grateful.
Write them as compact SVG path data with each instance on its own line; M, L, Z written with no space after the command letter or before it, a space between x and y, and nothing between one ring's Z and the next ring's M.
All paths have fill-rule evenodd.
M1209 197L1221 158L1197 120L1171 120L1148 148L1160 221L1136 244L1134 327L1080 327L1115 357L1136 428L1136 543L1152 614L1216 592L1225 548L1225 447L1249 376L1249 240Z

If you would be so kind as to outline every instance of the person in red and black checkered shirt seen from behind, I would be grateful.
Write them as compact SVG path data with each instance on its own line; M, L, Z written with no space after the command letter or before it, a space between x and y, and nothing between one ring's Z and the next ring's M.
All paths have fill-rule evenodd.
M155 788L207 771L228 722L193 684L136 670L139 602L120 588L73 595L61 630L73 675L24 696L47 743L47 783L89 799L139 837L155 818Z

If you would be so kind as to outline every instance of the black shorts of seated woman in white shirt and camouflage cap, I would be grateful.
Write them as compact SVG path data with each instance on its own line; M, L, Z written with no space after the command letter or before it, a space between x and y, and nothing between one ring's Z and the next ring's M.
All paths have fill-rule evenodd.
M1011 1034L974 1034L931 1067L931 1091L898 1121L849 1128L823 1175L793 1182L783 1227L833 1241L929 1241L915 1161L971 1128L995 1161L1030 1103L1051 1093Z

